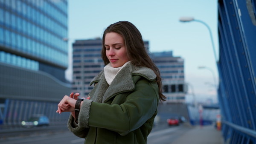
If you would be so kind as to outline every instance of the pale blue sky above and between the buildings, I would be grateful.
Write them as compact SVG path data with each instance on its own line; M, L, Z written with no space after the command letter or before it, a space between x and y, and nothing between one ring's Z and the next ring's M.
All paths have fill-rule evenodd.
M214 78L218 69L207 26L180 17L193 17L207 23L212 32L217 60L218 0L68 0L69 67L66 78L72 81L72 43L102 37L112 23L126 20L149 41L150 52L172 51L184 59L186 102L217 101ZM198 69L207 66L207 69Z

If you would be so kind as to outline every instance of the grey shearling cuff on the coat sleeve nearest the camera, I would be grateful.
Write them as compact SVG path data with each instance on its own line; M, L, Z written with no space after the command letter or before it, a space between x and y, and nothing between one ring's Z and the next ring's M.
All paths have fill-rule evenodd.
M90 106L92 102L93 102L92 100L84 99L84 102L81 106L79 117L78 117L79 127L89 127L88 119L90 114Z

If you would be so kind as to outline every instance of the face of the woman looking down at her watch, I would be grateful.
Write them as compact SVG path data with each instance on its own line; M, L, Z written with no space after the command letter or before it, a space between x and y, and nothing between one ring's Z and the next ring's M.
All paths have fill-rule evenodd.
M126 47L121 35L109 32L105 36L106 56L112 67L120 67L128 62Z

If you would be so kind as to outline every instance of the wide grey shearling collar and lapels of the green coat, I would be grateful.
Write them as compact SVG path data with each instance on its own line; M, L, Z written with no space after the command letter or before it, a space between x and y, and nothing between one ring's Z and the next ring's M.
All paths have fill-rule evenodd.
M104 71L102 71L90 83L92 85L98 82L89 94L90 99L98 103L104 103L113 95L134 90L135 84L132 75L140 75L149 81L154 81L156 78L152 69L144 66L134 68L134 65L129 63L118 72L109 86L105 79Z

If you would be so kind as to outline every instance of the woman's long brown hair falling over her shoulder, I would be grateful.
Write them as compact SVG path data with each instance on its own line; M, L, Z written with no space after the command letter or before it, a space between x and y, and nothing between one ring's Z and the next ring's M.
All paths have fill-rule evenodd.
M119 21L111 24L107 29L105 29L102 37L102 60L104 61L105 65L110 63L108 57L106 56L105 47L105 36L110 32L116 32L123 37L128 59L131 60L131 63L133 63L134 66L146 66L154 71L154 73L157 75L156 81L159 87L158 93L160 101L166 101L166 96L162 94L163 90L160 71L149 57L140 31L132 23L128 21Z

